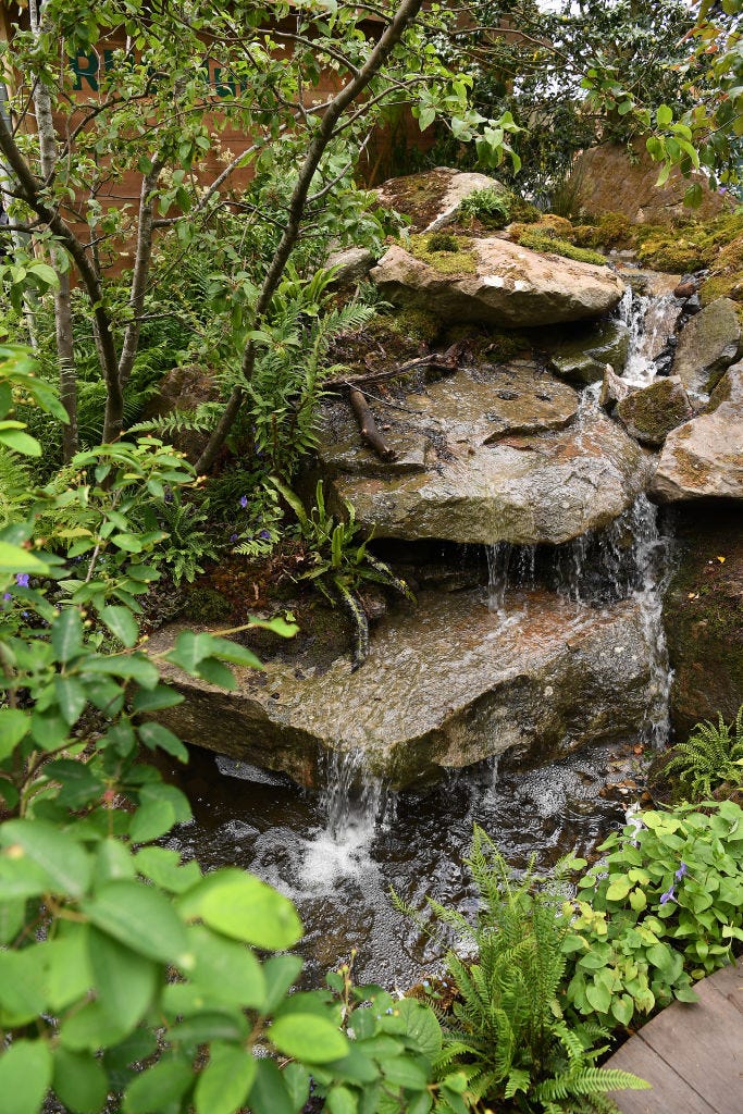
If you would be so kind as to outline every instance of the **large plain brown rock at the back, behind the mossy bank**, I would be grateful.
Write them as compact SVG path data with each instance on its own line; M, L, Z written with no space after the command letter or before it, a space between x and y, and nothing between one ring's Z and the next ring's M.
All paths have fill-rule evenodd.
M625 144L602 144L584 152L575 162L571 183L577 185L576 205L587 213L626 213L633 224L671 224L688 213L684 194L688 178L674 170L668 182L658 188L658 165L647 153L644 141L633 144L632 158ZM697 219L717 216L725 199L707 186L704 175L692 175L702 186L702 206Z

